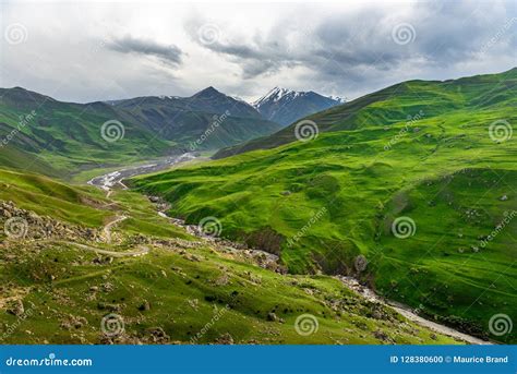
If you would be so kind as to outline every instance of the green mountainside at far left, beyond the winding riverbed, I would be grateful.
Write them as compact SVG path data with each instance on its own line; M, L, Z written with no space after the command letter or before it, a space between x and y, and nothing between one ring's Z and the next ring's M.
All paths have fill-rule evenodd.
M0 89L2 153L7 149L24 155L20 160L11 159L2 165L26 170L34 162L45 162L62 174L70 174L168 152L170 143L121 117L101 102L61 102L23 88ZM120 121L121 125L113 123L111 130L107 126L103 131L107 121ZM46 168L32 169L47 171Z

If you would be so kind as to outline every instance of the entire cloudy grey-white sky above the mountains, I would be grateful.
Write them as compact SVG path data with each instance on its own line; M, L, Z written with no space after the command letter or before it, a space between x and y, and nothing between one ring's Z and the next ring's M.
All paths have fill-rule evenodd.
M0 21L0 86L76 102L207 86L353 99L517 65L517 1L2 0Z

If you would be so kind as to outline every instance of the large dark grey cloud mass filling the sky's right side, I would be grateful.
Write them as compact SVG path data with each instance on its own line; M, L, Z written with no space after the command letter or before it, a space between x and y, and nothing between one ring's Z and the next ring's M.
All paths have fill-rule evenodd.
M290 15L266 36L240 41L232 35L201 45L237 63L244 79L305 67L323 80L340 75L368 81L390 71L444 69L478 60L500 34L489 52L515 56L516 15L510 2L416 2L398 13L394 5L389 12L369 8L334 14L310 29L303 20L292 27L297 19Z

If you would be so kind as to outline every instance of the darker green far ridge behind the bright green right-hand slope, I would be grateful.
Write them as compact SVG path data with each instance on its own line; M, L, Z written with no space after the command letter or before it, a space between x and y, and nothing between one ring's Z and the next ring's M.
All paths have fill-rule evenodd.
M306 119L318 132L356 130L371 125L392 125L422 110L425 118L445 111L477 110L516 106L517 68L501 74L478 75L449 81L408 81L381 89L357 100L321 111ZM296 123L270 135L219 150L224 158L254 149L268 149L294 142Z

